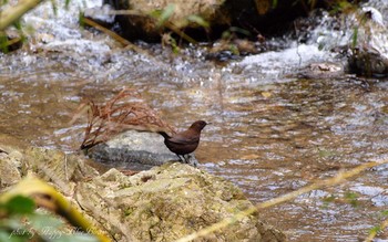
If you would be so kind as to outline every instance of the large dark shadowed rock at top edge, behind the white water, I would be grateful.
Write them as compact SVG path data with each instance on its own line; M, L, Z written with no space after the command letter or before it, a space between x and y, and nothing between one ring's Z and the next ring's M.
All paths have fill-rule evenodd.
M251 33L267 32L274 34L289 29L292 21L306 15L305 2L288 0L194 0L194 1L126 1L104 0L116 10L124 10L126 14L118 14L122 33L127 39L160 40L164 32L188 32L195 40L206 39L211 35L219 38L231 25L238 27ZM173 11L170 9L174 6ZM315 2L312 9L328 7L326 2ZM169 9L169 10L167 10ZM157 25L157 14L170 12L171 24ZM151 17L154 15L154 17ZM165 13L169 17L169 13ZM197 18L200 17L200 18ZM204 23L207 23L204 30ZM233 28L232 28L233 29ZM238 30L236 31L238 32ZM180 33L178 33L180 34Z

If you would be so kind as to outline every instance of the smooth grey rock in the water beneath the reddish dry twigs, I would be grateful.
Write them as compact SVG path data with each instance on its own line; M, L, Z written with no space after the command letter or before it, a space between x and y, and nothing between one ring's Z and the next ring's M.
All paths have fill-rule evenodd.
M88 155L100 162L114 165L131 170L145 170L169 161L178 161L178 157L164 145L164 139L156 133L129 130L113 139L94 146ZM191 155L192 166L197 165Z

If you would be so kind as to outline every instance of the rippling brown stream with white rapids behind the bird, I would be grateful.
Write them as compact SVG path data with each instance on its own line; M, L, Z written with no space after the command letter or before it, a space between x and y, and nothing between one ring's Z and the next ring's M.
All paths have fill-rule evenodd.
M42 20L39 11L51 14L48 4L28 18ZM309 63L335 60L314 44L290 41L284 51L217 65L201 46L177 55L159 44L142 44L147 54L122 49L79 30L71 11L60 10L62 25L34 27L34 44L0 55L2 134L74 151L84 126L69 122L81 99L133 87L178 128L211 122L196 151L200 168L238 185L255 203L388 158L388 82L294 77ZM387 219L387 178L388 166L379 166L261 215L290 241L363 241Z

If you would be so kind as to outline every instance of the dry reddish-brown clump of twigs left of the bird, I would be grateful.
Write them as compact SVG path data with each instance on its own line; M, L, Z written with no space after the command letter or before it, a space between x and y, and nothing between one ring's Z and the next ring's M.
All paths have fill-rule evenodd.
M81 149L89 149L129 129L174 133L174 129L141 99L141 95L131 88L122 90L105 104L98 105L89 101L86 106L88 126ZM80 112L84 109L85 104L78 108ZM79 118L80 114L74 116L72 122Z

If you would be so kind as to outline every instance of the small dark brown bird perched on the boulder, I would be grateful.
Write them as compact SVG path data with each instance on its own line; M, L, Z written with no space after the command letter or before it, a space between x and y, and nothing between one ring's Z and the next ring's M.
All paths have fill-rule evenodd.
M200 144L202 129L207 125L204 120L196 120L185 131L170 136L165 131L159 131L164 137L165 146L183 161L187 162L185 155L193 152ZM182 157L183 159L182 159Z

